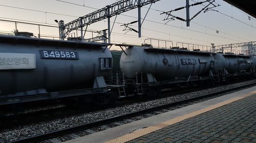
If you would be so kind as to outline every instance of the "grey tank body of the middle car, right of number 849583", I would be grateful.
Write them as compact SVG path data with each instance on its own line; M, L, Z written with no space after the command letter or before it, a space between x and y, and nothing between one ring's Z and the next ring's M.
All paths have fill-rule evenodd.
M136 73L153 74L158 80L189 75L208 74L210 53L159 49L149 47L129 47L122 53L120 68L126 78L135 78Z

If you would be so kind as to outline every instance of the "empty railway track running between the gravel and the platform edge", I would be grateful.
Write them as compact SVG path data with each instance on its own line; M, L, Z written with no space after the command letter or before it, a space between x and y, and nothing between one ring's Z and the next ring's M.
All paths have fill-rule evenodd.
M141 118L142 115L147 116L148 114L151 115L151 113L153 113L152 115L154 115L154 112L156 112L156 111L160 111L160 110L163 110L163 109L168 110L168 108L171 108L171 110L172 110L172 109L179 108L179 107L182 107L182 106L186 106L186 105L189 105L189 104L194 104L195 102L201 102L201 101L204 101L204 100L208 100L209 98L215 98L215 97L221 96L223 94L228 94L228 93L232 93L232 92L235 92L235 91L238 91L238 90L246 89L246 88L252 87L255 84L256 83L250 83L250 84L242 85L241 87L226 89L226 90L222 90L222 91L218 91L218 92L213 92L213 93L210 93L210 94L203 94L203 95L195 97L195 98L188 98L188 99L182 100L182 101L172 102L172 103L164 104L164 105L161 105L161 106L156 106L156 107L143 109L143 110L140 110L140 111L134 111L134 112L126 113L126 114L123 114L123 115L107 118L107 119L104 119L104 120L99 120L99 121L96 121L96 122L81 124L81 125L78 125L78 126L73 126L73 127L70 127L70 128L65 128L65 129L52 131L52 132L48 132L48 133L44 133L44 134L40 134L40 135L35 135L35 136L27 137L27 138L22 138L22 139L11 141L11 142L37 142L37 141L47 140L49 138L54 138L54 137L58 137L58 136L61 136L61 135L66 135L66 134L70 134L70 133L73 133L73 132L81 131L81 130L84 130L84 129L90 129L90 128L99 127L99 126L102 126L102 125L122 121L122 120L125 120L125 119L130 119L130 118L134 118L134 117ZM161 111L160 111L160 113L161 113Z

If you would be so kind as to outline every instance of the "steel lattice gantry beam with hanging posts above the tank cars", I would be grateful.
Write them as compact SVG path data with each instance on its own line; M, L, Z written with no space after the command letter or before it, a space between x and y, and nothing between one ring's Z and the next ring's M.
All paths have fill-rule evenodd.
M64 24L63 20L60 20L59 23L59 34L60 38L63 40L67 37L67 35L74 30L77 30L81 28L81 38L82 38L82 27L95 23L97 21L103 20L108 18L108 38L110 43L110 17L118 15L120 13L139 8L139 18L138 21L140 21L140 7L155 3L160 0L122 0L119 2L116 2L112 5L106 6L102 9L99 9L95 12L92 12L88 15L84 15L82 17L79 17L76 20L73 20L67 24ZM139 23L139 27L141 27L141 23ZM140 30L139 30L140 31ZM140 35L140 33L139 33Z

